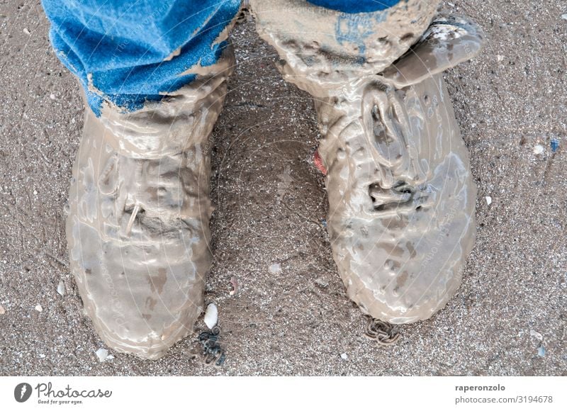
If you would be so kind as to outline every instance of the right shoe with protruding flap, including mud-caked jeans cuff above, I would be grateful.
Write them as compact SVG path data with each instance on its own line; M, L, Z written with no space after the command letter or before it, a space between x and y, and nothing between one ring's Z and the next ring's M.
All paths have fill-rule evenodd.
M283 76L315 98L327 227L347 294L395 324L446 305L475 237L476 186L441 72L476 55L482 36L466 21L431 23L436 3L347 14L252 2Z

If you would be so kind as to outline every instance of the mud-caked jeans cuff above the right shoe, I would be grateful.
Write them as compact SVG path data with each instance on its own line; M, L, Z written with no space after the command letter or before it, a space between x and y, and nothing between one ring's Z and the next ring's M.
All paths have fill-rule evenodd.
M262 37L271 38L269 43L281 43L282 50L301 60L308 71L312 72L317 65L333 77L337 70L374 74L389 67L425 33L437 13L439 0L251 0L250 3ZM371 3L381 5L382 9L369 11ZM395 4L383 8L391 3ZM322 7L326 5L329 7ZM355 12L362 6L366 11Z

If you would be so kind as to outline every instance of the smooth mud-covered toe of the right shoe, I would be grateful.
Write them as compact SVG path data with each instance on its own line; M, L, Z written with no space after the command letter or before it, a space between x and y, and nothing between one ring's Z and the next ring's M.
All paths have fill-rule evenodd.
M437 171L425 185L428 203L351 218L332 236L347 294L372 317L395 324L426 320L461 283L475 235L476 189L456 155Z

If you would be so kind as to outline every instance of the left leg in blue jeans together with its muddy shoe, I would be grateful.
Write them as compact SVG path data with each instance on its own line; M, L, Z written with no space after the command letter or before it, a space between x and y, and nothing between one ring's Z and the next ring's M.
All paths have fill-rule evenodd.
M89 105L69 193L71 271L108 346L157 359L203 309L206 142L234 64L227 38L240 4L134 5L44 1L57 55Z

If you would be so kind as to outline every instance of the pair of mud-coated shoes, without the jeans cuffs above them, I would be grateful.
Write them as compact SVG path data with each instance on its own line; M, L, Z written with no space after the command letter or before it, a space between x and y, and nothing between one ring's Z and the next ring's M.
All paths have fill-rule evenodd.
M459 286L475 227L476 187L440 73L476 54L481 34L466 21L434 21L399 60L412 43L398 36L408 44L372 74L265 30L266 14L257 15L284 77L315 97L327 227L349 297L379 320L425 320ZM69 193L70 264L86 313L117 351L157 359L203 310L206 145L233 64L229 47L159 103L133 113L106 105L99 118L86 110Z

